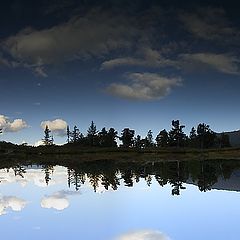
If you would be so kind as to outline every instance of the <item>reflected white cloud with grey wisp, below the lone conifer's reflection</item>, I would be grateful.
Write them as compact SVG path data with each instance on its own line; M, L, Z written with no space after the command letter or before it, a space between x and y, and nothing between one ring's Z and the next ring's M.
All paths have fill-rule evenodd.
M68 196L79 194L73 191L59 191L51 196L46 196L41 201L42 208L54 208L56 210L64 210L69 207Z

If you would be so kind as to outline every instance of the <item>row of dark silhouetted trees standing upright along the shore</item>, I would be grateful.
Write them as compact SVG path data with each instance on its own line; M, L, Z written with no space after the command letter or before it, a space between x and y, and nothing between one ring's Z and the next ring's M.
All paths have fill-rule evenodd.
M217 134L211 130L210 126L205 123L199 123L193 127L187 135L184 132L185 126L180 124L179 120L172 121L171 130L161 130L156 138L153 137L152 130L147 132L146 137L135 136L135 130L124 128L120 136L114 128L98 131L95 123L92 121L87 134L80 132L77 126L72 130L67 126L67 144L78 145L82 147L109 147L109 148L168 148L168 147L191 147L191 148L224 148L231 147L229 136L225 133ZM118 146L117 139L121 142ZM54 139L48 126L44 130L44 145L53 145Z

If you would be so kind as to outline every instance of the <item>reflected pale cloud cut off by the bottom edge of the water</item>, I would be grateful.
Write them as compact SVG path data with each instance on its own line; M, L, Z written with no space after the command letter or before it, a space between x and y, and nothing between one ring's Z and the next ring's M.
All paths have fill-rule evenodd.
M159 231L141 230L124 234L116 240L170 240L170 238Z

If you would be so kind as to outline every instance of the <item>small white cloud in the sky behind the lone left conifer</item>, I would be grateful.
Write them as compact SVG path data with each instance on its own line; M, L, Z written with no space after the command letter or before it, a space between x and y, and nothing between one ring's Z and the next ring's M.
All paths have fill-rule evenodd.
M57 136L65 136L67 131L67 122L62 119L55 119L53 121L41 122L41 128L45 129L46 126Z

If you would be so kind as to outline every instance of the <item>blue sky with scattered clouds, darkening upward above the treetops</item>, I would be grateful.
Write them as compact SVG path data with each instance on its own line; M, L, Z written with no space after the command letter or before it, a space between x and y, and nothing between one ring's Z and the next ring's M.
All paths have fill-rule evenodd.
M145 136L205 122L239 129L239 19L231 1L8 1L0 12L1 140L51 125ZM57 120L57 121L56 121Z

